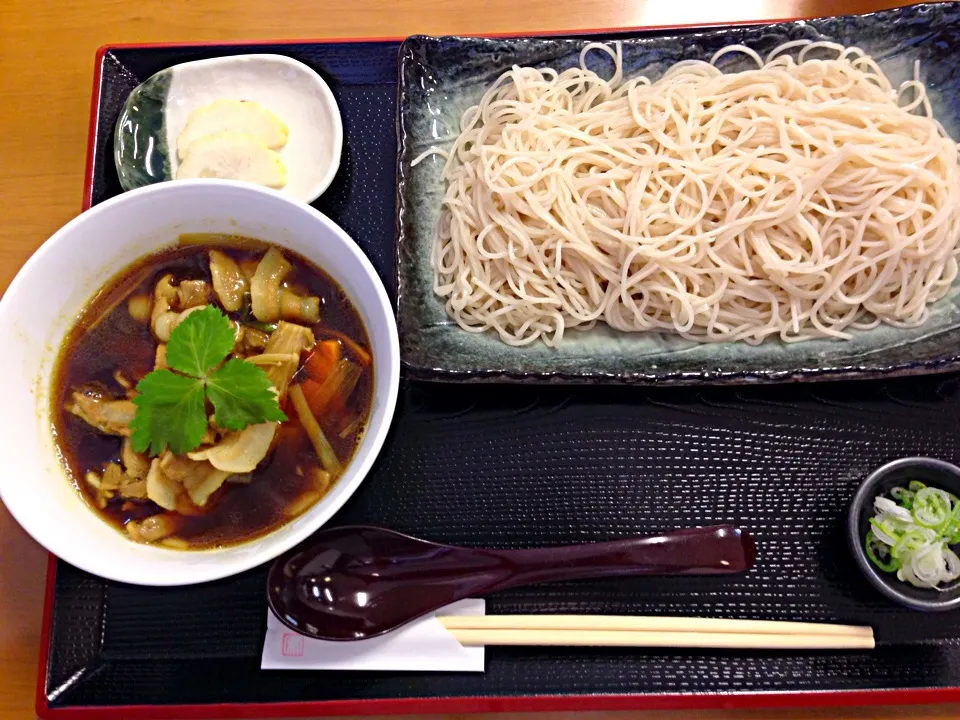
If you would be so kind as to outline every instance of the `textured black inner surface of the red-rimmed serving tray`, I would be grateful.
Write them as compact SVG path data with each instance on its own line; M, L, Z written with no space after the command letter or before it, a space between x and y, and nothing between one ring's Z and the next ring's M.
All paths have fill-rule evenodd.
M130 89L176 62L249 50L108 52L94 202L119 191L110 137ZM337 95L346 157L318 206L390 287L396 45L257 50L316 67ZM149 589L61 563L45 692L52 707L84 707L957 686L960 613L886 602L857 574L843 516L857 483L892 458L960 461L958 420L955 375L672 390L405 382L380 461L335 520L494 547L734 522L758 541L743 576L545 585L493 596L488 609L866 623L875 652L491 648L483 674L264 672L265 568Z

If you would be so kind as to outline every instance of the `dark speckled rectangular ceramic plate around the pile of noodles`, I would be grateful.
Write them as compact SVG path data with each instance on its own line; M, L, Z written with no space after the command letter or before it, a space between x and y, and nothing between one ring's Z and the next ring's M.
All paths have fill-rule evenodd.
M429 258L443 195L442 160L434 156L413 168L410 163L431 145L449 147L463 112L511 65L573 67L584 44L597 39L623 42L628 78L659 77L680 60L707 59L725 45L742 43L762 54L796 39L856 45L873 55L895 84L910 79L919 60L937 118L960 139L960 3L630 38L409 38L399 57L397 273L401 352L410 373L441 380L680 384L908 375L960 367L958 287L932 307L923 327L882 326L849 341L696 344L600 325L567 333L558 349L540 343L513 348L492 333L461 330L432 288ZM721 67L735 66L721 62Z

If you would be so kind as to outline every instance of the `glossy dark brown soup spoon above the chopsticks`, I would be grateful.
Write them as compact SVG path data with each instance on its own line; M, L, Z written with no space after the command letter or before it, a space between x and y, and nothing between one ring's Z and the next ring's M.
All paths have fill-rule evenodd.
M267 600L281 622L321 640L361 640L497 590L623 575L747 570L750 535L731 525L529 550L454 547L377 527L323 530L274 561Z

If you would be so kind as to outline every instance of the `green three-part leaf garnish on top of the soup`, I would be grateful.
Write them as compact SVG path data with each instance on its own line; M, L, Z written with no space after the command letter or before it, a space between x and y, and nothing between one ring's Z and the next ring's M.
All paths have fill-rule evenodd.
M213 420L225 430L287 419L266 373L246 360L223 360L233 349L234 328L212 305L195 310L170 333L169 370L154 370L137 383L130 438L137 452L175 454L199 447Z

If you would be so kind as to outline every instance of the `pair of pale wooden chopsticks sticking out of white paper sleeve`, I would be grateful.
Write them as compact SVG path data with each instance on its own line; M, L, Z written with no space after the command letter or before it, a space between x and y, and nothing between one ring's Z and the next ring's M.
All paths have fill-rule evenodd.
M869 650L873 630L854 625L615 615L439 616L464 646L593 645L606 647Z

